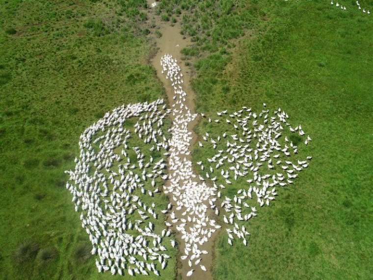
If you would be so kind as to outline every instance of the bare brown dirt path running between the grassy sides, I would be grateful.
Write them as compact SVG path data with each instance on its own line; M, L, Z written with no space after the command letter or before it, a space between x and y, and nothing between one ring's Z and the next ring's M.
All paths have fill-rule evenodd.
M149 6L152 2L153 1L148 0ZM160 38L156 38L158 52L152 58L151 62L154 68L157 70L158 78L164 85L165 91L167 93L169 105L172 106L172 104L174 103L174 100L173 100L174 89L171 86L170 80L166 79L166 75L161 73L162 69L160 65L160 58L166 53L169 53L174 58L176 58L179 66L182 68L182 73L184 75L183 76L183 79L184 79L183 89L187 93L185 103L190 109L191 113L195 113L195 102L194 102L195 94L192 91L191 86L190 86L191 71L189 67L185 66L184 63L182 63L182 60L181 60L181 57L182 57L181 50L191 44L190 40L188 38L183 39L183 35L180 34L181 27L179 23L176 23L174 26L171 26L170 23L164 23L160 21L159 16L155 14L154 9L152 8L149 9L148 13L151 19L153 19L154 17L156 21L156 26L157 28L159 27L159 29L157 30L159 30L162 33L162 36ZM173 120L172 114L170 114L170 118L172 121ZM197 117L193 122L190 122L188 124L188 131L192 133L191 134L192 140L190 143L191 144L190 147L193 147L193 145L197 141L197 135L194 133L193 128L198 124L198 122L199 122L199 118ZM191 155L189 155L188 157L189 157L188 159L191 160ZM166 184L169 184L169 182L166 182ZM171 201L171 197L170 197L170 201ZM181 212L182 212L181 210L178 211L174 207L173 211L175 211L176 216L179 216L179 217L181 216ZM208 214L210 217L212 217L213 211L208 212ZM207 268L208 271L204 272L199 268L199 265L198 266L193 265L192 268L195 269L195 271L191 277L187 277L187 272L190 270L187 260L180 259L180 256L184 255L183 252L184 252L185 246L184 246L184 242L182 242L181 240L181 234L177 235L178 244L179 244L178 277L177 277L178 279L181 278L181 279L190 279L190 280L202 280L202 279L213 280L213 276L212 276L213 247L214 247L213 244L214 244L216 235L217 235L217 232L213 233L209 241L205 242L203 246L201 246L201 250L206 250L209 252L209 254L203 255L203 259L200 262L200 264L203 264Z

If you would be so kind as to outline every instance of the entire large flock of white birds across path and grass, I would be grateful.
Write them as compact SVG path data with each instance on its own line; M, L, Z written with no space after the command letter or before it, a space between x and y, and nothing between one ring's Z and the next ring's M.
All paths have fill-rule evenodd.
M279 108L271 114L264 104L258 113L242 107L233 113L218 112L213 120L201 114L210 125L225 127L225 132L202 136L199 148L210 146L216 153L197 162L200 172L195 174L188 124L197 114L187 107L177 61L166 54L160 63L174 88L172 108L157 100L108 112L81 134L75 170L66 171L70 175L66 188L73 195L76 211L81 212L91 253L98 255L99 272L159 276L170 258L167 247L177 246L176 232L183 242L181 259L190 267L187 276L195 269L206 271L203 255L211 252L201 246L221 227L211 214L223 212L230 245L235 239L247 245L244 222L257 215L255 205L270 205L276 187L293 183L311 160L310 156L300 159L292 138L283 135L285 131L297 134L297 139L303 139L301 144L307 145L311 138L302 127L291 127L286 112ZM167 129L170 114L172 124ZM134 121L129 126L126 123L131 118ZM159 156L152 156L154 153ZM296 159L291 160L293 157ZM246 188L233 197L221 195L241 178L246 180ZM170 199L165 209L152 202L162 192ZM167 220L156 228L155 221L163 214Z

